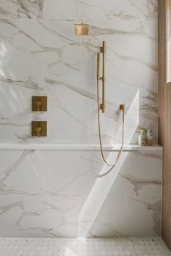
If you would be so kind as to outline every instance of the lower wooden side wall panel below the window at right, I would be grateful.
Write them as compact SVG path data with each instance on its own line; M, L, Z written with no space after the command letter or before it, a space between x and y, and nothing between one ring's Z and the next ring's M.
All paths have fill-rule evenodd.
M163 178L162 178L162 238L171 249L171 83L162 86L163 117Z

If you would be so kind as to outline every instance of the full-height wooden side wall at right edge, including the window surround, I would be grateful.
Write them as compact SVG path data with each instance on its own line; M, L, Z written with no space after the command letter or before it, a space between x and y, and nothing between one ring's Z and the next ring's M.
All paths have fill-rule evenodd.
M171 250L171 83L166 83L170 61L171 0L159 0L159 144L163 146L162 238ZM169 12L169 13L168 13ZM168 58L167 58L168 56Z

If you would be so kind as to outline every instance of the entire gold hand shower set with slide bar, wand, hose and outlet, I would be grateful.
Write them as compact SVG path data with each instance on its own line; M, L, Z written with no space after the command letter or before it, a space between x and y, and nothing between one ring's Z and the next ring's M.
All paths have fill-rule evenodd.
M110 167L114 167L118 160L120 159L120 156L122 154L123 150L123 144L124 144L124 123L125 123L125 104L120 104L120 110L122 111L122 144L120 146L120 150L117 154L117 158L114 163L107 162L106 158L104 157L104 151L101 141L101 123L100 123L100 110L102 110L102 113L105 112L105 54L106 54L106 42L103 41L103 45L101 47L101 52L103 54L103 70L102 70L102 76L100 76L100 53L97 53L97 104L98 104L98 128L99 128L99 142L100 142L100 150L101 150L101 157L103 158L104 162L109 165ZM102 103L99 102L99 80L102 80ZM112 168L107 171L109 173L112 170ZM106 173L106 174L107 174Z

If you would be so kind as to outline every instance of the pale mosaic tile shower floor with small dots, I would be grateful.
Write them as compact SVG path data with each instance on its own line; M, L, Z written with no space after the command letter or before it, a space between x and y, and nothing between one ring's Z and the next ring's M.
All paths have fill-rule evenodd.
M0 256L171 256L160 238L0 238Z

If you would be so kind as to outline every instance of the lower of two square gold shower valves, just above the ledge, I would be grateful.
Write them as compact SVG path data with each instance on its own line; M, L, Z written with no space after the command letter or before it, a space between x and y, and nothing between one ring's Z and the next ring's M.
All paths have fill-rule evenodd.
M47 136L47 121L32 121L31 136L46 137Z

